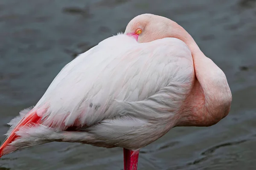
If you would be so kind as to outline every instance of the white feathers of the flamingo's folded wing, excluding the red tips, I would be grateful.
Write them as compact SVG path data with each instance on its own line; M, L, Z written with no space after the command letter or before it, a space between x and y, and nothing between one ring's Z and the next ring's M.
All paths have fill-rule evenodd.
M184 42L165 38L139 44L119 34L68 63L35 108L47 108L46 113L38 115L45 118L43 125L58 131L74 124L88 127L128 112L133 114L131 108L124 111L124 105L129 108L141 104L136 113L142 114L138 113L140 107L156 104L155 99L142 104L154 95L162 100L158 102L166 102L164 108L159 105L160 109L173 110L179 106L175 101L182 102L188 93L193 74L191 52ZM165 93L157 94L159 91ZM177 94L176 98L168 97L170 93L173 97Z

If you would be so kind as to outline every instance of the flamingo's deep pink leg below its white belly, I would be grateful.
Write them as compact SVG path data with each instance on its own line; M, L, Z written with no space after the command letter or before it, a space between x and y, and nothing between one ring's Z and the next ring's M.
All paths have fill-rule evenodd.
M139 151L124 148L124 170L137 170Z

